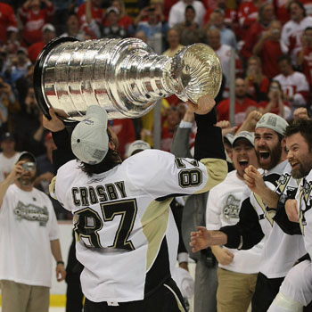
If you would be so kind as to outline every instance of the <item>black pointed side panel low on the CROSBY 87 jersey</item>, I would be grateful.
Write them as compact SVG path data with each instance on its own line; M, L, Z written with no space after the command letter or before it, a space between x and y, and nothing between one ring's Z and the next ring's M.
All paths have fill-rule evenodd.
M158 252L157 258L146 274L144 298L152 295L154 291L157 291L161 285L170 278L170 276L168 244L165 236L161 242L160 251Z

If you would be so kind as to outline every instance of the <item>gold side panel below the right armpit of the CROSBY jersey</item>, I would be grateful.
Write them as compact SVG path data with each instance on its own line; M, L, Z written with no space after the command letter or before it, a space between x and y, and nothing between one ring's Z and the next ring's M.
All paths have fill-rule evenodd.
M160 245L168 226L169 205L172 199L152 201L141 218L143 233L148 242L146 272L152 267L160 250Z

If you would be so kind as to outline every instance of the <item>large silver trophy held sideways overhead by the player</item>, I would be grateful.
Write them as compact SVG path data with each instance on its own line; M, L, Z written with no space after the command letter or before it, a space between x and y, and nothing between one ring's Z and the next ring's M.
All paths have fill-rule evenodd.
M39 54L34 77L46 117L53 107L67 116L64 121L79 121L94 104L109 119L122 119L141 117L172 94L193 103L203 94L216 97L222 70L208 45L189 45L169 58L136 38L80 42L60 37Z

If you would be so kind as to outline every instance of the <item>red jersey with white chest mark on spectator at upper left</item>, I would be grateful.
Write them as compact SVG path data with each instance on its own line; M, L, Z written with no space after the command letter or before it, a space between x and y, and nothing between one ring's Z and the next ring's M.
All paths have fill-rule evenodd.
M23 6L19 9L19 17L24 25L22 37L27 45L35 44L42 40L41 29L52 20L54 7L49 6L37 12L31 9L25 9Z

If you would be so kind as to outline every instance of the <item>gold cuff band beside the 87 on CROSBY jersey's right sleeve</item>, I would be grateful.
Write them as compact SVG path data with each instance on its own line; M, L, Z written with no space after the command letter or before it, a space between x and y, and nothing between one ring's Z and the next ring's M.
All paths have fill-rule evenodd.
M209 191L212 187L221 183L227 175L226 160L219 160L217 158L202 159L201 163L205 165L208 173L208 181L206 185L196 193L204 193Z

